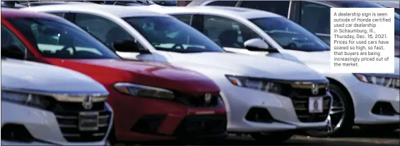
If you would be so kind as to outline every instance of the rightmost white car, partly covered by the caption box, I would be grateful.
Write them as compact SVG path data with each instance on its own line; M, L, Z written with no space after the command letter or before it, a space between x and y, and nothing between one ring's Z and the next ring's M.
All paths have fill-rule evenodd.
M275 13L218 6L147 9L191 24L227 51L297 61L324 73L334 97L330 126L327 130L310 131L312 135L339 135L351 130L354 123L375 131L399 128L399 58L395 58L395 73L334 74L329 71L329 46Z

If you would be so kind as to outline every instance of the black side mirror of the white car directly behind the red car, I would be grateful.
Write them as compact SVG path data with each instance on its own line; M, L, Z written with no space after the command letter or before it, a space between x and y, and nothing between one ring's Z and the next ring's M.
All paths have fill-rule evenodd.
M115 51L150 54L150 51L148 51L147 49L140 49L136 41L131 39L123 39L117 42L113 42L112 47L114 47Z

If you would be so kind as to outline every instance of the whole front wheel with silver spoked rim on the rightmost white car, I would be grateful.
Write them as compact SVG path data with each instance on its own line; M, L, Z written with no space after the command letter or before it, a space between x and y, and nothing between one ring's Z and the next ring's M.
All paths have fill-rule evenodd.
M309 130L308 135L315 137L339 136L352 130L354 123L354 106L349 97L339 85L331 83L331 95L333 97L331 111L327 118L327 128L324 130Z

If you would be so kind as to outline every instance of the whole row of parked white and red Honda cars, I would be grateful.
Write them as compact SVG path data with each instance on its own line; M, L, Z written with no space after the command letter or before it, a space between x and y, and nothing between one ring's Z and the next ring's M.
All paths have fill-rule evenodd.
M50 2L1 9L7 145L399 128L398 57L395 73L330 73L329 44L275 11Z

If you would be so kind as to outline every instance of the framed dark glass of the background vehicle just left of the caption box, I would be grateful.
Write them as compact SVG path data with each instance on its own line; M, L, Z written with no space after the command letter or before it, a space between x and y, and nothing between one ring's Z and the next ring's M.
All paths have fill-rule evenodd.
M320 4L317 1L293 1L292 5L289 19L330 44L331 6Z

